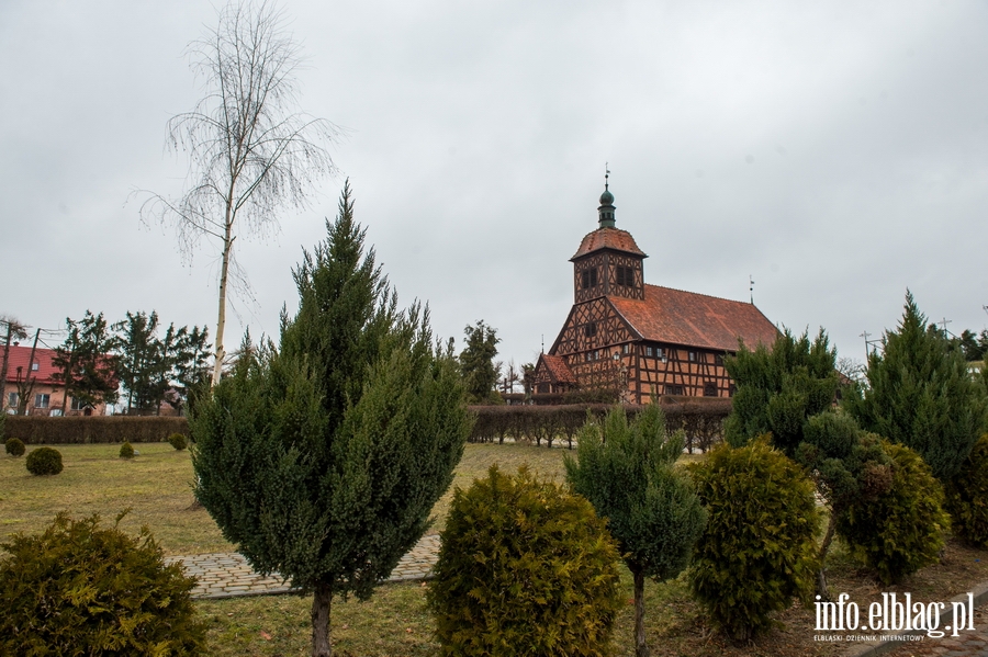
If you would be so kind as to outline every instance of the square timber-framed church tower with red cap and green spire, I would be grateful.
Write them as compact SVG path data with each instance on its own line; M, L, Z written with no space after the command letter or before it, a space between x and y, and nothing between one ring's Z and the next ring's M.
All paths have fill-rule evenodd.
M615 227L614 194L610 193L610 172L604 175L604 193L597 207L599 227L588 233L573 263L574 299L591 301L600 296L644 298L643 260L648 258L627 230Z

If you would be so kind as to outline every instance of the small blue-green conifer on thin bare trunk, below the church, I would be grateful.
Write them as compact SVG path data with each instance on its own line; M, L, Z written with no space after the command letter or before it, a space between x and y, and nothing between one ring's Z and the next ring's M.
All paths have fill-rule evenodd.
M635 578L635 646L648 657L644 636L644 578L659 581L686 567L706 524L706 512L685 473L675 469L682 432L669 435L658 404L629 424L625 410L611 409L599 426L587 420L580 432L577 461L565 458L573 489L587 498L618 542Z

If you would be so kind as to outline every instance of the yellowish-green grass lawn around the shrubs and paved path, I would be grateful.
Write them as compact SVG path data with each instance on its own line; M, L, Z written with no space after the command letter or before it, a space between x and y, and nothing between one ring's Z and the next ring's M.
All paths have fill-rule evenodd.
M29 446L29 449L32 449ZM0 541L11 533L37 532L59 510L75 517L99 512L108 521L122 509L131 513L123 528L134 533L147 524L168 554L223 552L234 547L223 540L210 516L191 510L192 465L187 451L167 443L139 444L132 461L117 457L120 445L60 445L65 469L54 477L34 477L24 457L0 457ZM564 449L548 450L515 444L469 444L457 468L454 486L464 488L493 464L509 473L527 463L542 476L562 480ZM696 460L698 456L684 456ZM441 529L452 490L436 505L433 531ZM618 618L614 645L618 656L633 655L631 578L621 567L629 604ZM951 542L941 564L883 587L860 569L838 541L828 574L832 591L846 592L862 608L880 599L883 591L911 591L914 600L948 600L988 581L988 552ZM425 608L427 584L384 585L366 602L334 599L332 636L341 657L433 655L431 620ZM746 646L732 646L710 632L688 593L685 578L645 584L645 622L655 657L680 655L759 657L767 655L842 655L847 644L813 643L813 609L794 605L779 614L783 623ZM310 599L295 596L200 601L198 609L210 626L210 655L307 655Z

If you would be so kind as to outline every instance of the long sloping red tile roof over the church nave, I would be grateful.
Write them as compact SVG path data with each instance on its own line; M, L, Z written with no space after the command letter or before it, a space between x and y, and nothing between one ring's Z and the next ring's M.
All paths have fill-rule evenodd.
M738 338L754 349L772 346L778 329L753 304L672 287L645 285L643 301L608 301L644 340L737 351Z

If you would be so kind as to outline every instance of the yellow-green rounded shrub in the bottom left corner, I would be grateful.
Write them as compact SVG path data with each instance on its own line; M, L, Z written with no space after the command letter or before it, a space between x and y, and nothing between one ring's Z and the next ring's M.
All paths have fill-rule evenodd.
M131 537L99 526L99 516L59 513L44 533L15 534L0 547L0 654L203 653L194 580L165 565L147 528Z

